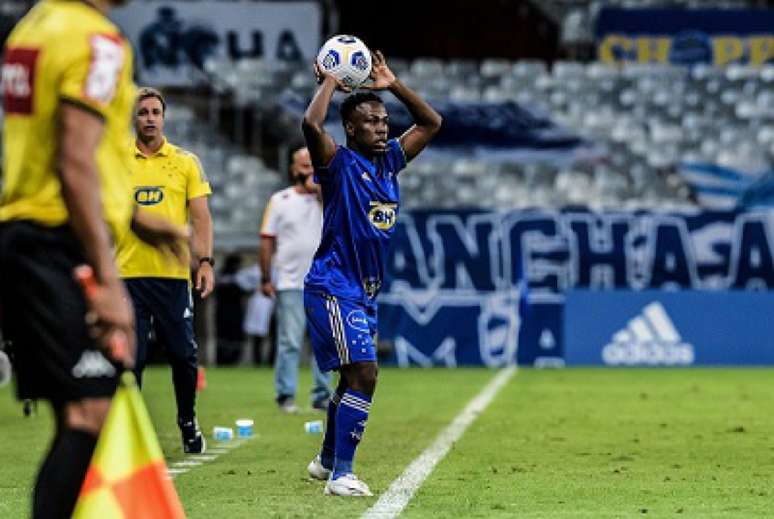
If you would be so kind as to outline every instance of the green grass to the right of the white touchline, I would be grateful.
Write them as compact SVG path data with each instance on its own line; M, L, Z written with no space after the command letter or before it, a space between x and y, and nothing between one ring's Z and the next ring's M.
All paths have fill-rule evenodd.
M522 370L407 508L771 517L771 370Z

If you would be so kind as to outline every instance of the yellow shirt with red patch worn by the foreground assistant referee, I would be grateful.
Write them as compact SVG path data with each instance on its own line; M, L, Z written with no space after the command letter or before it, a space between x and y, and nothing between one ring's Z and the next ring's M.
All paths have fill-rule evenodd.
M3 191L0 220L67 222L56 172L62 101L105 121L97 149L105 220L114 236L131 218L126 143L136 95L132 50L118 28L85 2L43 0L14 28L2 70Z

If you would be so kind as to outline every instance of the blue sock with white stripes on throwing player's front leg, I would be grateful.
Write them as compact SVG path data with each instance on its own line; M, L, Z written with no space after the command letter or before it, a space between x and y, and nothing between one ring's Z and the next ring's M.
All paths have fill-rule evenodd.
M333 402L333 400L331 400ZM335 426L328 429L335 432L335 461L333 464L333 479L352 472L352 460L355 449L360 443L368 421L368 411L371 408L371 397L352 389L347 389L341 397L336 412ZM331 412L331 407L328 407ZM325 441L328 441L328 429L325 431ZM323 451L325 443L323 444ZM323 465L325 462L323 461Z

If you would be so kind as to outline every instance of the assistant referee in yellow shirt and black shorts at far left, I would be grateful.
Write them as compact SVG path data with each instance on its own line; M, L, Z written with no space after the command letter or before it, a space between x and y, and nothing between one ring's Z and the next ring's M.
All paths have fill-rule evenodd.
M132 362L132 308L111 239L130 224L156 245L184 239L168 224L133 218L132 51L106 17L113 5L43 0L16 25L3 58L3 336L17 396L48 400L56 420L35 483L36 518L72 514L118 372ZM89 312L73 278L83 263L97 282ZM126 337L126 356L108 353L113 334Z

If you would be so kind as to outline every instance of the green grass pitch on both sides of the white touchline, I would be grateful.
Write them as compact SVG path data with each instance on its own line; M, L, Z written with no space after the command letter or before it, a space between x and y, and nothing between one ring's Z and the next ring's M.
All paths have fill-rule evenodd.
M480 389L486 370L384 369L356 470L386 490ZM253 418L256 438L175 480L189 517L357 517L376 498L322 495L307 410L280 414L272 373L209 369L200 421ZM306 404L308 372L299 403ZM769 517L772 370L521 370L436 467L407 517ZM144 389L169 462L183 458L169 372ZM0 517L29 515L51 420L0 389ZM211 442L212 444L212 442Z

